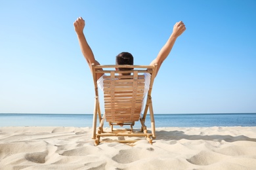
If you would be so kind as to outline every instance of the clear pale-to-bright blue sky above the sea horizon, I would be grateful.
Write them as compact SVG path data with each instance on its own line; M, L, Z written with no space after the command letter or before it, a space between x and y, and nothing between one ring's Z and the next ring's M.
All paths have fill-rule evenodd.
M184 22L154 82L154 112L256 112L255 9L255 0L1 1L0 113L93 113L79 16L102 65L123 51L148 65Z

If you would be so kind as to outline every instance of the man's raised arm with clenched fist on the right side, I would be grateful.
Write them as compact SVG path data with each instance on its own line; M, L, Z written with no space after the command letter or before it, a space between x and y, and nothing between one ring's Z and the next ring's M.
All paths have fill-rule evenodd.
M186 30L186 27L183 22L177 22L173 26L173 33L169 37L168 41L165 43L165 45L161 48L160 52L158 53L158 56L156 59L154 59L150 65L154 65L154 63L158 64L158 70L156 71L156 74L158 74L158 71L161 67L161 64L167 58L169 53L171 52L171 49L173 48L173 45L176 41L176 39Z

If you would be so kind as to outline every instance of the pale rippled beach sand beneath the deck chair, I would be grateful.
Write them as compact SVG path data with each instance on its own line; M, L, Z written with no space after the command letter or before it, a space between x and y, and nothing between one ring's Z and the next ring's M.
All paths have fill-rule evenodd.
M256 127L159 127L94 145L89 127L0 127L0 169L256 169Z

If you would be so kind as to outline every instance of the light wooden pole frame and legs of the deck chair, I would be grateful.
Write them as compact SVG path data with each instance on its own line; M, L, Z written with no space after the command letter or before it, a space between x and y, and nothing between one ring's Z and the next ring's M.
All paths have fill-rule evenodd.
M119 143L135 143L140 139L136 140L104 140L100 141L100 137L146 137L146 140L152 144L152 139L156 138L156 129L155 129L155 120L154 120L154 111L152 106L152 86L154 83L154 78L156 76L156 70L158 65L155 63L154 65L95 65L95 63L91 64L92 72L93 72L93 82L95 84L95 108L93 112L93 136L92 139L95 139L95 146L99 143L108 143L108 142L119 142ZM105 113L101 114L100 112L100 102L98 99L98 85L96 80L96 74L98 73L110 73L110 69L115 68L132 68L130 71L114 71L115 73L134 73L135 71L139 71L139 73L150 73L150 87L147 93L147 96L144 96L146 100L146 105L144 107L144 112L142 117L140 116L140 124L141 129L137 133L134 133L133 126L135 122L109 122L111 131L104 131L103 126L106 120ZM142 106L143 107L143 106ZM150 111L150 121L151 121L151 133L148 132L147 127L145 126L146 114L148 113L148 109ZM96 131L97 119L99 120L98 131ZM139 122L139 121L138 121ZM113 126L127 126L130 125L131 129L113 129Z

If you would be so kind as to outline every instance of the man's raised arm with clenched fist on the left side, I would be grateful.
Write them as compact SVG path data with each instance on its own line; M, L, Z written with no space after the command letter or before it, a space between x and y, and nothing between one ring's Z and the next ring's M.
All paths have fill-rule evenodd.
M87 63L89 64L89 67L91 69L91 63L95 63L95 65L100 65L98 61L96 61L95 56L93 55L93 51L91 50L91 47L87 43L85 39L85 35L83 34L83 29L85 27L85 20L83 18L79 17L74 22L75 32L77 34L77 38L79 41L79 45L81 48L81 52L83 53L83 56L85 57ZM91 69L92 71L92 69ZM97 74L96 79L100 78L102 74Z

